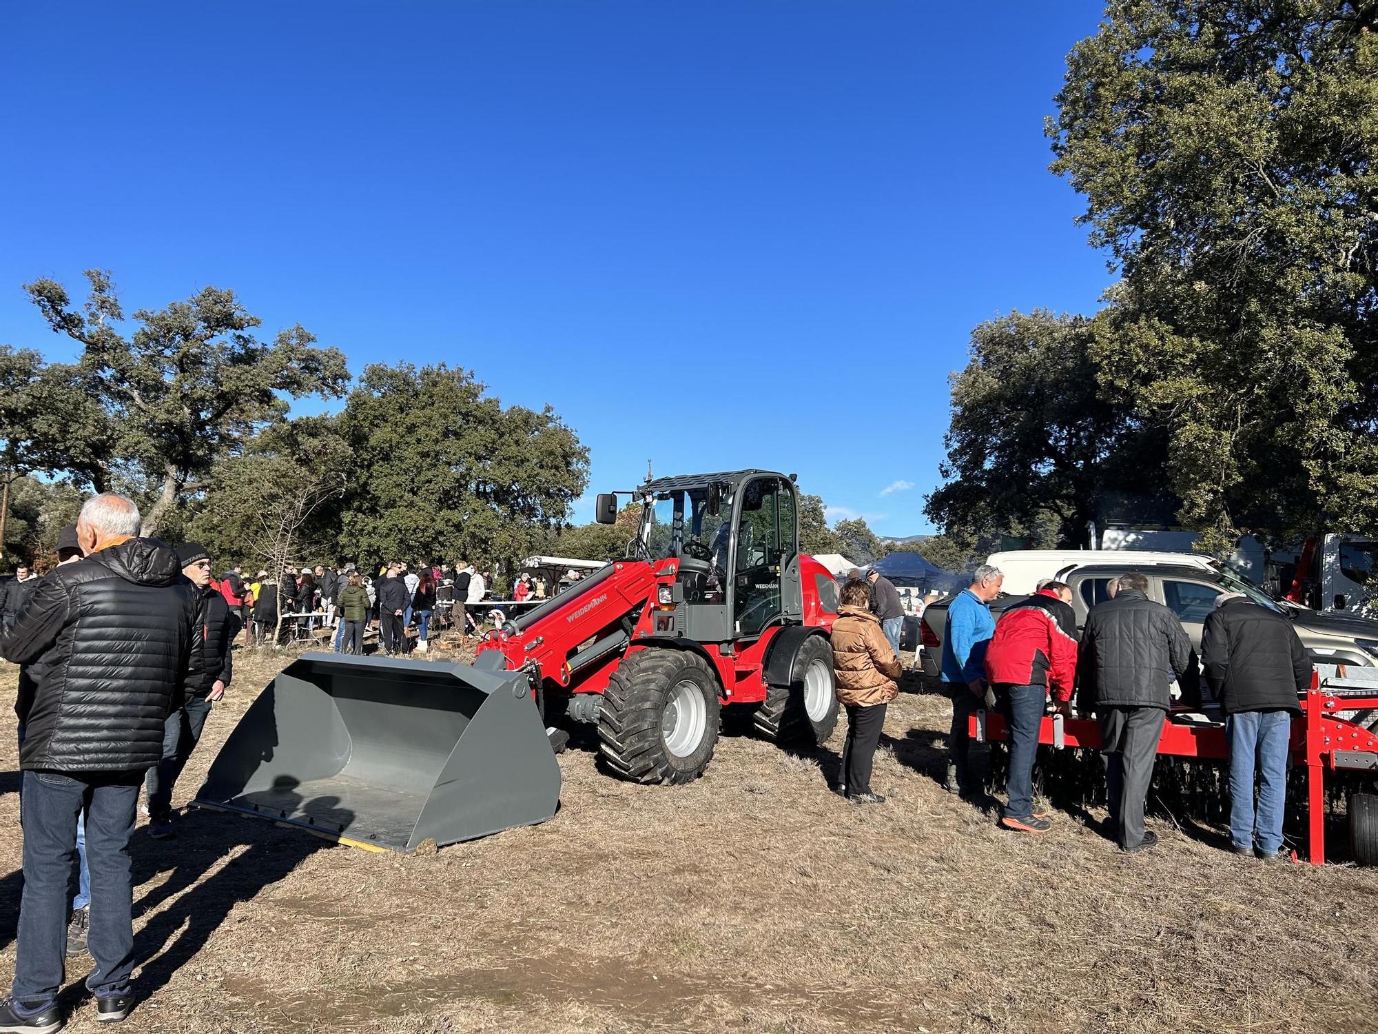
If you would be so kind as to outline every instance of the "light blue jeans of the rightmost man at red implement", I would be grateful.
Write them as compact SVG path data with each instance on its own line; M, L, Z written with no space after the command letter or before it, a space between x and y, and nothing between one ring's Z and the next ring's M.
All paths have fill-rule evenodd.
M1237 848L1258 847L1265 855L1283 847L1283 805L1287 797L1290 711L1240 711L1225 718L1229 740L1229 838ZM1254 769L1258 808L1254 808Z

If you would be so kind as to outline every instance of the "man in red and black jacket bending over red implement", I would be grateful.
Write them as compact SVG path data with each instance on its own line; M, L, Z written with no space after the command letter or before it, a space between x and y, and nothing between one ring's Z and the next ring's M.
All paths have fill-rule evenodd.
M1034 760L1047 692L1062 714L1071 711L1076 681L1076 614L1072 590L1049 582L995 623L985 651L985 674L1010 731L1009 802L1000 826L1020 833L1047 833L1053 823L1034 813Z

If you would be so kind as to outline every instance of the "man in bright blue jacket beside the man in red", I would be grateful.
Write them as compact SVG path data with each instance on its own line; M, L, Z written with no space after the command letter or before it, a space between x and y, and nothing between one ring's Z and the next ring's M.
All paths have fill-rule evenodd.
M995 707L995 693L985 681L985 648L995 634L991 600L1000 594L1003 585L1005 575L999 568L981 564L971 575L970 587L963 589L948 607L947 627L943 631L943 682L952 695L945 783L948 793L970 793L967 724L978 709Z

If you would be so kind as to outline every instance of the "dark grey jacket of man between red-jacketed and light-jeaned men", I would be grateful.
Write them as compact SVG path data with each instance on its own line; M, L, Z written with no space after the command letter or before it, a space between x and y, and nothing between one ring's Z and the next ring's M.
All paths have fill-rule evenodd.
M1177 615L1144 593L1120 591L1093 607L1076 658L1078 706L1171 706L1173 678L1182 698L1200 698L1200 669Z

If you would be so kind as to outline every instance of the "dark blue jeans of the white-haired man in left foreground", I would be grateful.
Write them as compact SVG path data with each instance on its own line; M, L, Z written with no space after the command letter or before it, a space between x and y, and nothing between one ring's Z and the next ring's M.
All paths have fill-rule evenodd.
M134 972L134 895L130 835L139 804L139 772L25 772L19 802L23 826L23 898L11 994L28 1008L51 1005L66 973L69 891L77 852L77 816L85 807L91 913L87 947L95 969L87 987L113 998Z

